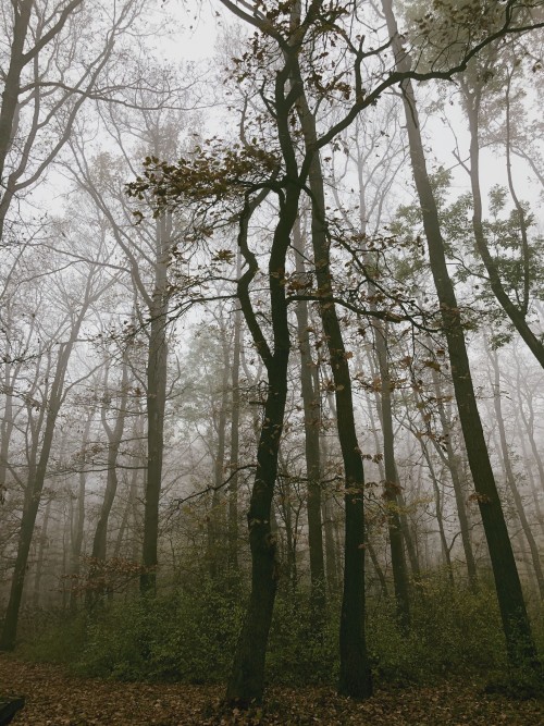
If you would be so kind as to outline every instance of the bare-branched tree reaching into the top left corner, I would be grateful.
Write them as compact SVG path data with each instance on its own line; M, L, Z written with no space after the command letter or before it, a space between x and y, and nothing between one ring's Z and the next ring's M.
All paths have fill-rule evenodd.
M114 8L104 3L101 12L83 0L10 4L10 54L4 60L0 109L2 239L13 200L29 190L59 156L85 101L111 98L121 81L121 74L115 81L113 76L114 49L134 25L144 0L126 0ZM15 236L8 231L10 238Z

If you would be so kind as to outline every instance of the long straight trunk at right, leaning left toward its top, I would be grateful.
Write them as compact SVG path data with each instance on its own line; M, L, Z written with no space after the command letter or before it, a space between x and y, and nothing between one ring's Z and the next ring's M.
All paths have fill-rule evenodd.
M397 67L407 70L409 59L400 44L391 0L382 0L382 7L393 39ZM478 410L461 313L446 264L438 211L426 171L416 97L410 82L403 84L403 95L413 177L420 199L431 270L448 345L459 419L495 578L508 662L514 668L531 666L537 668L540 664L523 601L521 582Z

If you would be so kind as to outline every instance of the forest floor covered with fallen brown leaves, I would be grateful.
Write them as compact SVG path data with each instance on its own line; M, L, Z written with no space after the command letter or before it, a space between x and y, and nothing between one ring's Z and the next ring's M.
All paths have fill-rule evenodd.
M13 726L543 726L544 701L485 694L448 680L429 688L378 690L362 703L326 688L271 688L263 713L220 714L223 689L77 678L59 666L0 655L0 693L24 694Z

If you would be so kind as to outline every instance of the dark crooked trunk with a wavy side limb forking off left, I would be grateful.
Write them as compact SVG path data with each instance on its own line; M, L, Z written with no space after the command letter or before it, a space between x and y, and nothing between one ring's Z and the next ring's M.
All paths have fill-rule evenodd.
M293 58L295 52L292 50ZM298 214L300 198L298 169L289 135L290 102L286 97L286 84L290 76L289 65L293 63L293 58L286 60L285 67L279 71L275 82L276 123L290 181L285 182L269 258L272 348L264 339L249 296L249 285L257 273L258 262L247 246L250 214L260 199L264 198L265 193L261 193L260 199L258 196L254 200L254 208L251 202L246 204L238 234L238 245L247 264L246 272L238 280L238 299L268 373L268 392L257 450L257 471L247 515L251 551L251 593L225 697L226 702L243 707L262 701L264 659L277 583L276 536L272 532L271 517L280 439L287 399L287 366L290 350L284 275L290 234Z

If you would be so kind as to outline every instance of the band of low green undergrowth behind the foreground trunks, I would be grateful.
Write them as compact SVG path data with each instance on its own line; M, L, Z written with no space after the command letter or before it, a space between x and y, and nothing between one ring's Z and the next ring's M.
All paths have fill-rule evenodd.
M63 663L82 676L121 680L224 681L243 623L246 594L228 594L203 579L156 599L134 596L91 614L51 619L24 642L21 653ZM543 613L534 629L543 653ZM270 632L270 684L334 685L338 669L339 602L316 613L309 594L280 589ZM504 637L491 585L477 591L433 575L412 586L411 627L403 630L394 603L368 598L367 641L378 682L430 684L452 676L500 682ZM521 679L523 674L521 674Z

